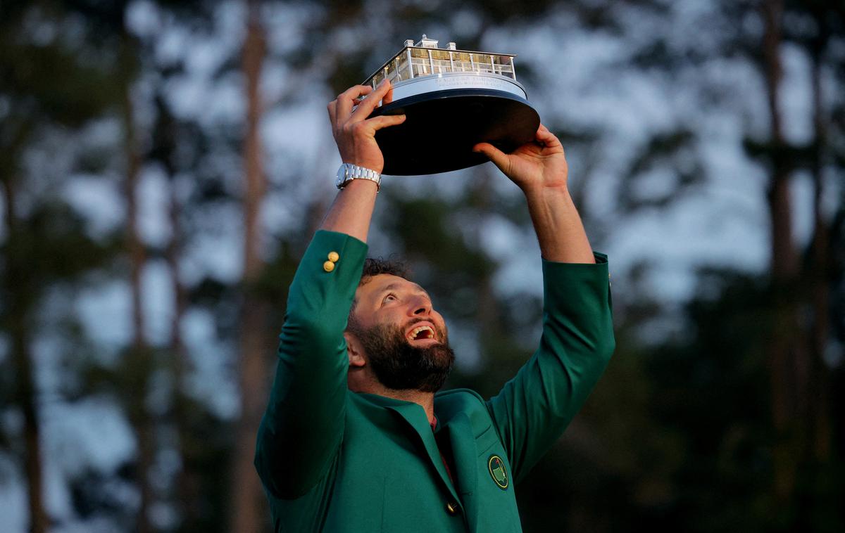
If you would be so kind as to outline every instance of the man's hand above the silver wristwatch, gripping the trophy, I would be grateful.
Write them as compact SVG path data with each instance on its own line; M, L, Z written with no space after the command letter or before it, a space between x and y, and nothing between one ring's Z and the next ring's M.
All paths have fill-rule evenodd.
M367 98L362 98L363 96ZM337 149L344 163L357 164L381 173L384 156L375 142L375 132L383 127L395 126L405 121L404 115L367 117L373 112L379 100L384 104L393 100L393 88L385 79L373 89L367 85L356 85L346 89L329 108L331 132L335 136ZM355 110L352 107L357 105Z

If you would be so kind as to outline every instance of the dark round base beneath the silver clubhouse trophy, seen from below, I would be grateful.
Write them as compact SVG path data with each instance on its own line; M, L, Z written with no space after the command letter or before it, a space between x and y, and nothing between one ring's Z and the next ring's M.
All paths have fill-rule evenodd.
M373 110L405 122L375 134L387 175L426 175L461 170L488 159L473 153L490 143L510 153L534 139L540 116L527 102L501 90L448 89L408 96Z

